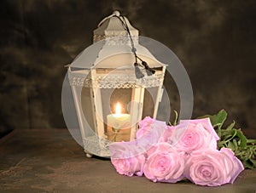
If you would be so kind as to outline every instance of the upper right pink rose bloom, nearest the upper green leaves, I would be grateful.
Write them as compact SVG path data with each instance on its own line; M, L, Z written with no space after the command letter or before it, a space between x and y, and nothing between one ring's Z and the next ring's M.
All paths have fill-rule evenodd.
M179 151L191 153L195 150L217 149L218 135L209 119L181 121L172 133L169 143Z

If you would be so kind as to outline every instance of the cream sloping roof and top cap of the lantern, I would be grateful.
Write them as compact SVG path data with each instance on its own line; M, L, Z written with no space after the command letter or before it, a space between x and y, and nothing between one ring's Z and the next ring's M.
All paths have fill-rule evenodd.
M126 17L120 16L118 11L114 11L99 23L94 31L94 43L85 48L73 60L71 67L87 70L119 68L122 65L133 67L135 63L133 48L137 50L137 56L145 60L149 67L164 66L165 64L156 60L148 48L139 43L141 37L138 36L138 33L139 31L131 26ZM142 37L142 39L145 38Z

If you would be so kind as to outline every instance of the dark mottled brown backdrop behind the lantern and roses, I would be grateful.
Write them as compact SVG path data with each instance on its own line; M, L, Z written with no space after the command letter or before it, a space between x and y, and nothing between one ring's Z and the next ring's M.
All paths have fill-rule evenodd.
M63 65L92 43L92 31L114 9L183 62L195 94L193 117L225 109L237 127L256 128L255 1L2 0L0 135L66 127ZM177 101L174 93L173 106Z

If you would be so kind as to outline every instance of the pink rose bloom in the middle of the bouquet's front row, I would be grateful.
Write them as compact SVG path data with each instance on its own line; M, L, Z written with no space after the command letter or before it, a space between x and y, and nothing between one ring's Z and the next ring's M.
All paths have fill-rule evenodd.
M148 158L143 167L148 179L169 183L183 179L183 169L182 153L178 153L167 143L159 143L148 150Z

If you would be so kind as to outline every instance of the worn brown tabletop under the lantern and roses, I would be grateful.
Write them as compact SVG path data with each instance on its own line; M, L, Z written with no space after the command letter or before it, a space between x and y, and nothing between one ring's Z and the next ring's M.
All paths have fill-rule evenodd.
M67 129L16 129L0 139L0 157L0 192L256 193L255 169L220 187L119 175L108 159L87 158Z

